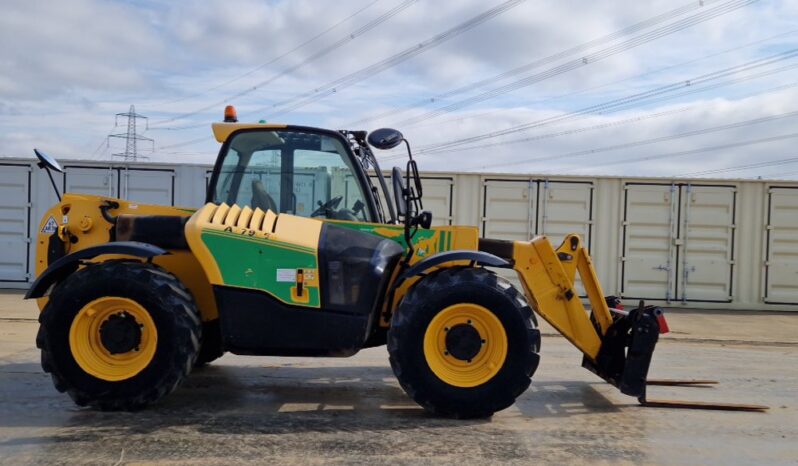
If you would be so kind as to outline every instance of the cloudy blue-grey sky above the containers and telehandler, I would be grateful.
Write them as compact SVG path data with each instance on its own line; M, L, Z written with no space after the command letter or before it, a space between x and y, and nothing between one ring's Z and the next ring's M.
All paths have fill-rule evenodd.
M2 3L0 157L117 159L135 105L140 155L212 163L233 104L422 171L798 179L795 1Z

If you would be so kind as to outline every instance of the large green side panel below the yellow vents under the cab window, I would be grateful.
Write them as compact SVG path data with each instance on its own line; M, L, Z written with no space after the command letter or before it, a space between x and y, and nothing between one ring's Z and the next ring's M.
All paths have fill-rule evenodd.
M294 280L278 279L278 269L303 269L318 274L316 250L216 230L205 230L201 237L216 259L225 285L263 290L297 306L321 305L318 287L306 286L304 293L309 294L309 299L302 302L292 297L291 288L296 285Z

